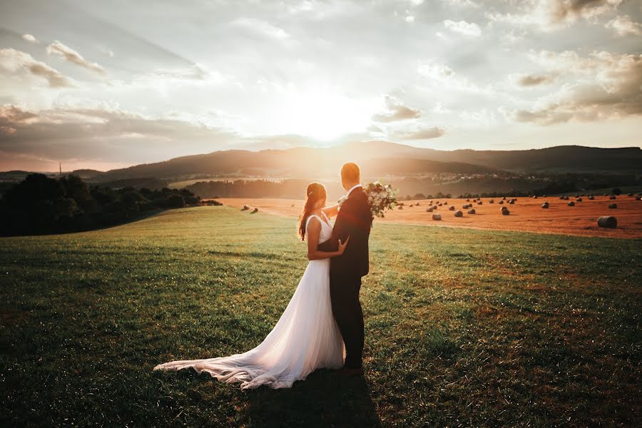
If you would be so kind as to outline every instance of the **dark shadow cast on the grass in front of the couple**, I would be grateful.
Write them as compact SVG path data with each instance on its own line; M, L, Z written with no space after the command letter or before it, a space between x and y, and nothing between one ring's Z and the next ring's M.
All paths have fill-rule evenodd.
M364 377L317 370L292 388L251 392L251 427L381 427Z

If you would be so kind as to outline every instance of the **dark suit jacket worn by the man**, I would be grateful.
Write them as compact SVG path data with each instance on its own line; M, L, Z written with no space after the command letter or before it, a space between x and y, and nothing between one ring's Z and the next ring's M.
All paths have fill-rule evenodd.
M362 277L367 275L368 238L372 228L372 213L370 204L363 188L355 188L341 205L332 238L319 245L320 251L336 251L339 242L345 242L350 236L342 255L330 258L330 275L346 275Z

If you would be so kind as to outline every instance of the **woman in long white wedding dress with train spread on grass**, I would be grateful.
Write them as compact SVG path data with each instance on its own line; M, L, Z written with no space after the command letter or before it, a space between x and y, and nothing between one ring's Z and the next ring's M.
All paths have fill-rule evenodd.
M243 354L203 360L165 362L153 370L180 370L193 367L198 374L208 372L223 382L241 382L241 389L266 385L289 388L297 380L320 368L338 369L345 360L345 345L330 304L330 258L339 250L322 252L317 245L332 236L330 218L338 205L325 206L326 191L320 183L307 186L306 200L299 220L301 240L307 236L307 263L299 285L272 331L257 347Z

